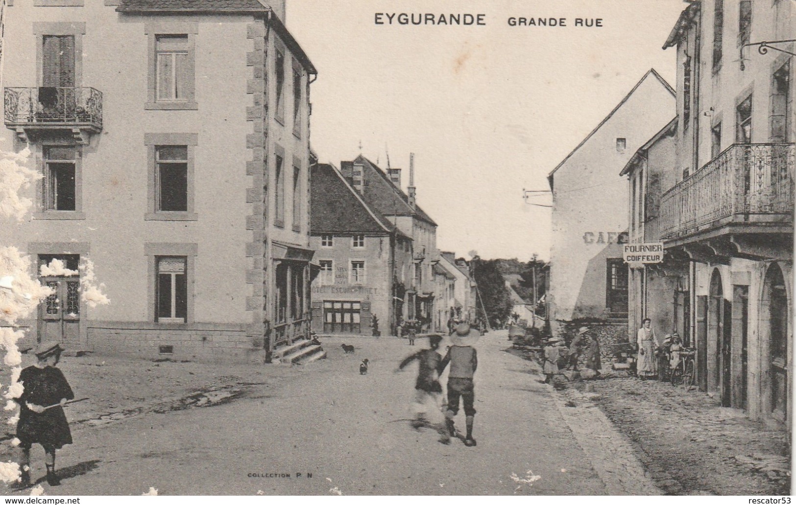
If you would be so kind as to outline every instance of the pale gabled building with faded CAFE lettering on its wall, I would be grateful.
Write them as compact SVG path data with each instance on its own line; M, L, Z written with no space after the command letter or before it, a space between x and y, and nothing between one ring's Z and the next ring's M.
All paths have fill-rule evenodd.
M674 90L650 69L548 175L552 247L546 293L552 332L573 320L615 323L626 335L627 180L618 177L640 146L672 118Z

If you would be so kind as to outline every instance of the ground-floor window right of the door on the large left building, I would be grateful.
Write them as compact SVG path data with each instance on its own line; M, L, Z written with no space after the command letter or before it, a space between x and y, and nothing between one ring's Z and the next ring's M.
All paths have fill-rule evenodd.
M184 323L188 313L188 280L185 256L158 256L155 282L155 321Z

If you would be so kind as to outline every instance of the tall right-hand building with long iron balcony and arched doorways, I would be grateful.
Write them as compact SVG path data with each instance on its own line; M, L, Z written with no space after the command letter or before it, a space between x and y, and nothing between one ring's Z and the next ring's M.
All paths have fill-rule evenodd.
M664 45L677 51L677 149L657 210L681 265L700 389L782 427L793 394L794 15L782 0L683 10Z

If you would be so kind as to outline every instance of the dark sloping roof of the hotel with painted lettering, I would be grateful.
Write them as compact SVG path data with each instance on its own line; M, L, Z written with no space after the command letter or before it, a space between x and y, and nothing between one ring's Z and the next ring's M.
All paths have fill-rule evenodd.
M368 208L338 169L326 163L310 167L311 233L387 234L392 230L392 223Z

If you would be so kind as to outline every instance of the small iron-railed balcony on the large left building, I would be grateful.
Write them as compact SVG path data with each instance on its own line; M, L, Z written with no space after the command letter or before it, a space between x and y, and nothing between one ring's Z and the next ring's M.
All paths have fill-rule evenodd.
M6 126L27 142L46 130L68 130L80 143L102 131L102 92L93 87L6 87Z

